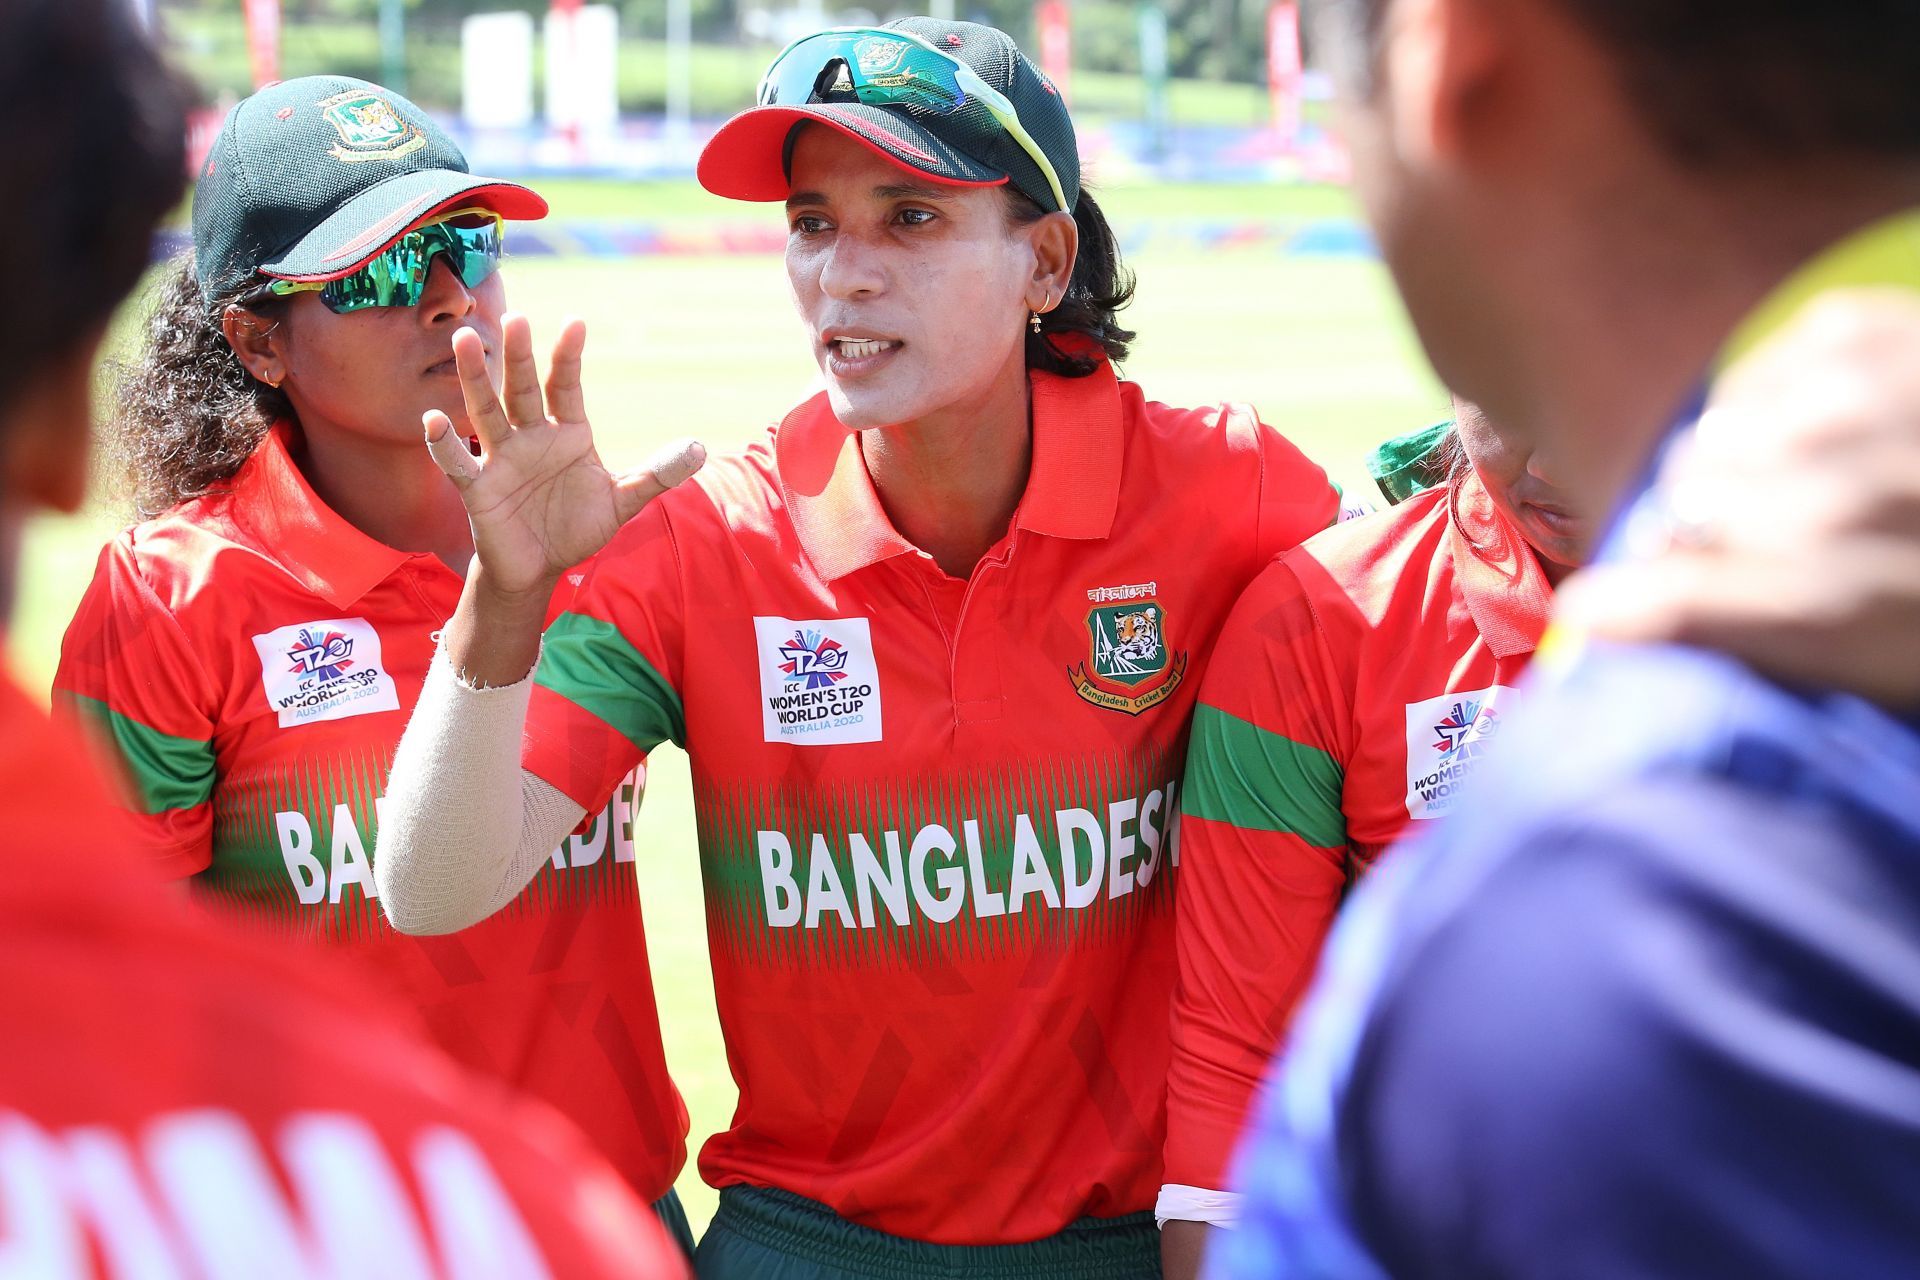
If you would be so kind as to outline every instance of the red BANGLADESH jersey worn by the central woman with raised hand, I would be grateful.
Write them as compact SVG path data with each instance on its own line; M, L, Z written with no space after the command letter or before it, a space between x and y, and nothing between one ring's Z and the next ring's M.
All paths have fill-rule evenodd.
M701 1155L856 1222L1004 1244L1160 1186L1181 758L1235 597L1325 528L1244 409L1037 372L968 580L816 397L630 522L547 631L526 768L595 806L691 754L741 1100Z

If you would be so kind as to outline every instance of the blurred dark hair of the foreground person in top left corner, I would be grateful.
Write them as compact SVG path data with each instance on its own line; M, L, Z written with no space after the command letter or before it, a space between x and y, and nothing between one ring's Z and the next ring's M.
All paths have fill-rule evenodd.
M0 416L100 332L186 182L186 94L127 0L0 4ZM84 424L75 424L84 430Z

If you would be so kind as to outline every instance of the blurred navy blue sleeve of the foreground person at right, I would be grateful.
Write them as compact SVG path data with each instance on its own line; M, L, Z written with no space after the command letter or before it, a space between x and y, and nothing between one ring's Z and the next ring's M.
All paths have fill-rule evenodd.
M1697 775L1511 839L1394 960L1359 1040L1336 1150L1380 1265L1920 1274L1897 841Z

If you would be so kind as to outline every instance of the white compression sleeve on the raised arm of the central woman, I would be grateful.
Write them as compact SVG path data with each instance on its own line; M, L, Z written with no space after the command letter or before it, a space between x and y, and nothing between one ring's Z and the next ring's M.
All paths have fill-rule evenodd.
M445 651L434 654L394 752L372 858L380 908L401 933L478 925L580 825L586 810L520 768L532 691L534 672L503 689L474 689Z

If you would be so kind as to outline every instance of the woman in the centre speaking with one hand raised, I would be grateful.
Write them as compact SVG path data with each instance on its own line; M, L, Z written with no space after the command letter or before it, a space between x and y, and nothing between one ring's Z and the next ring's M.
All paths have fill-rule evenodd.
M678 741L741 1090L699 1272L1156 1276L1187 722L1231 601L1336 493L1250 411L1116 376L1129 282L1006 35L824 33L760 104L701 180L785 201L826 391L653 497L701 453L611 476L578 330L545 399L524 326L503 399L455 338L480 457L428 434L476 566L380 904L488 917Z

